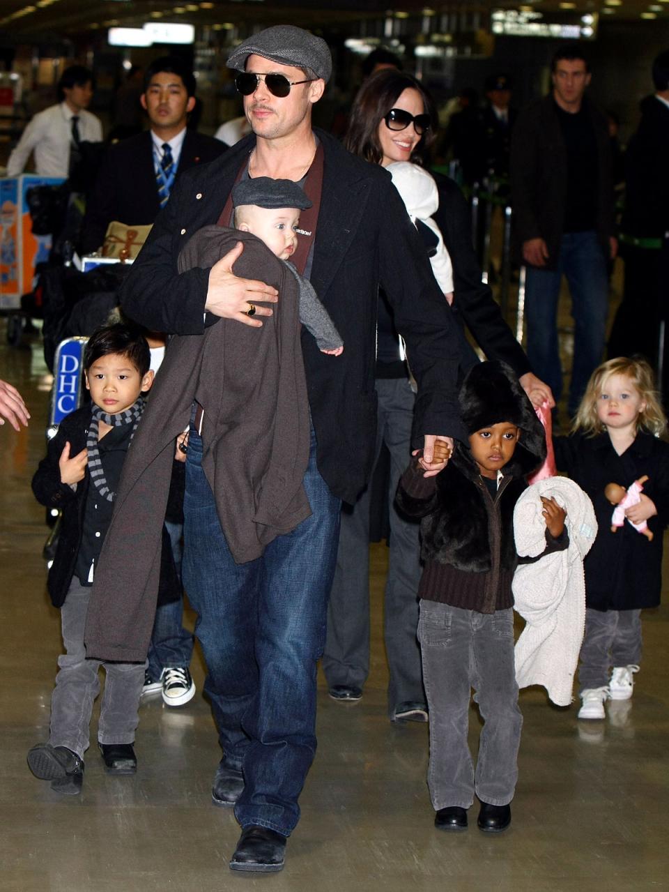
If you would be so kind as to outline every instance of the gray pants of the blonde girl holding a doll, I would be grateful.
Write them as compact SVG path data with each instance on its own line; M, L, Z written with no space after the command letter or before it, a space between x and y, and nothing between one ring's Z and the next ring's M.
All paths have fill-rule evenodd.
M586 609L578 668L579 694L588 688L608 685L611 666L639 665L640 659L640 610Z

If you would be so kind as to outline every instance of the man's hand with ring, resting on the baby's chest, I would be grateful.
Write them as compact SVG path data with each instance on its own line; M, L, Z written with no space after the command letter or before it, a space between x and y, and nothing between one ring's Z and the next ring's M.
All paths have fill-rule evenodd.
M238 242L232 251L227 252L209 270L209 287L205 310L225 319L236 319L245 326L262 327L258 316L272 316L271 307L262 307L261 303L276 303L279 293L272 285L265 285L257 279L239 278L233 273L233 263L244 250L242 242ZM249 309L254 311L249 316Z

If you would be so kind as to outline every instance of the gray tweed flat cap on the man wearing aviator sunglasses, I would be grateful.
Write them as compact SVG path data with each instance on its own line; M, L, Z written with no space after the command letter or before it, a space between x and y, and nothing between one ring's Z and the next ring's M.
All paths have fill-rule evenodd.
M274 25L247 37L228 56L228 68L243 71L249 55L260 55L280 65L310 68L326 84L332 73L330 47L322 37L293 25Z

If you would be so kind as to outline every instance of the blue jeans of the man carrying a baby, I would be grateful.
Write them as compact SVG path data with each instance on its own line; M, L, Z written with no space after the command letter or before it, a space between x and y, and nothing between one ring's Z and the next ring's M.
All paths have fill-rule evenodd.
M225 763L241 768L234 814L289 836L316 749L316 661L325 641L339 509L318 473L312 435L304 478L312 515L262 558L235 564L191 431L184 499L184 587L198 613L204 690Z

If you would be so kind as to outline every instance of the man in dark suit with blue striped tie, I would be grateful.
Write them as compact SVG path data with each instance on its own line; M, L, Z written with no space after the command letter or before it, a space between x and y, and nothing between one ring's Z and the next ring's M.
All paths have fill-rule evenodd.
M153 223L175 178L225 151L219 140L186 128L195 78L178 57L151 62L140 102L151 129L110 147L86 208L80 252L96 251L112 220L128 226Z

